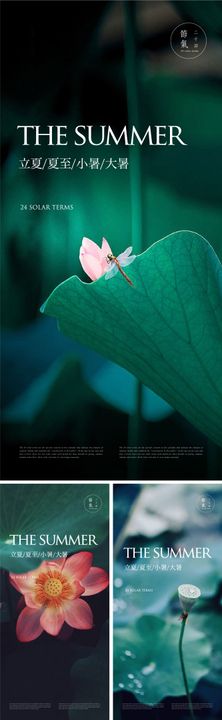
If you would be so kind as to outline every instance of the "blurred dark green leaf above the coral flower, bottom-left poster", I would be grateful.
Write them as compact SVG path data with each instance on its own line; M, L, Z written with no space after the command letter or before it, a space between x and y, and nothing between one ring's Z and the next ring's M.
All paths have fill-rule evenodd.
M84 500L92 492L92 486L82 485L3 485L1 488L1 566L13 572L24 572L40 565L42 557L13 557L12 552L18 551L43 552L53 550L52 546L39 545L41 533L56 533L63 537L71 534L95 534L98 543L98 555L101 557L100 545L108 534L108 486L93 485L93 493L102 501L101 510L90 513L85 508ZM9 535L36 534L36 545L12 545ZM59 546L57 550L68 553L80 550L92 550L96 565L97 547L78 545Z

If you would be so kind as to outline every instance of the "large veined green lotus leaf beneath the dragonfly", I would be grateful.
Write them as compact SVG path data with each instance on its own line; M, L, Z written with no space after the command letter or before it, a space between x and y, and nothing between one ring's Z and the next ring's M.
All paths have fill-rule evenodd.
M124 249L124 248L123 248ZM222 444L222 268L197 233L172 233L106 281L59 285L43 311L132 372Z

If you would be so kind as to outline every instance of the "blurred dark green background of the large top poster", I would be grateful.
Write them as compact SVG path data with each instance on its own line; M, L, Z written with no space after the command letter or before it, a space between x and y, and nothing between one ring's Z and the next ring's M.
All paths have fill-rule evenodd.
M206 237L221 258L221 3L154 5L135 4L140 128L142 132L147 125L178 124L188 144L141 151L143 247L188 229ZM126 376L120 379L117 369L115 380L109 381L109 368L99 355L64 339L55 321L39 313L58 283L73 274L86 279L78 260L83 235L98 243L105 235L115 253L131 243L129 171L50 174L18 169L24 156L119 157L127 154L126 148L98 152L70 145L49 153L45 146L36 152L37 148L21 147L16 131L17 124L83 123L109 124L118 132L127 123L124 10L120 2L2 4L5 479L132 476L118 459L118 446L126 445L129 437L124 393L130 393L130 412L134 411ZM208 38L207 51L193 63L177 58L169 45L173 27L184 20L202 24ZM74 203L74 211L20 210L20 203L33 202ZM109 382L112 402L106 400ZM160 409L155 396L146 403L142 444L201 444L204 457L176 467L145 461L137 469L140 477L219 477L218 450L209 449L207 439L182 416ZM104 457L91 462L86 458L77 466L64 461L22 462L20 444L99 444Z

